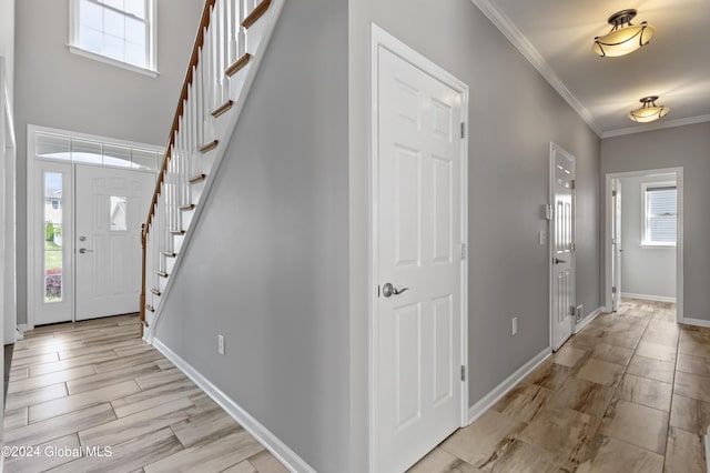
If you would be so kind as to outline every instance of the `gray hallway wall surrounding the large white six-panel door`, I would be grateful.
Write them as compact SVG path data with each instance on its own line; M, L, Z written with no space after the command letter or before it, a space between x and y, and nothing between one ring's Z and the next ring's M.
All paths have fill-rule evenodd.
M470 0L351 4L351 246L353 383L367 385L367 155L371 22L470 88L469 403L549 345L547 228L550 141L577 157L577 301L598 308L599 139ZM510 319L518 316L518 335ZM366 393L366 390L362 390ZM365 395L353 400L364 439ZM365 414L366 419L366 414ZM358 422L359 421L359 422ZM366 445L353 445L354 459Z

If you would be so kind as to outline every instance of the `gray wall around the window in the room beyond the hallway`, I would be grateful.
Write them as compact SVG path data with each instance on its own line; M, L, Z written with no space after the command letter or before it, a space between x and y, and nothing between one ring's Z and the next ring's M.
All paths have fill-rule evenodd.
M676 298L676 246L641 246L643 200L641 183L674 182L676 174L622 178L621 292L650 298Z

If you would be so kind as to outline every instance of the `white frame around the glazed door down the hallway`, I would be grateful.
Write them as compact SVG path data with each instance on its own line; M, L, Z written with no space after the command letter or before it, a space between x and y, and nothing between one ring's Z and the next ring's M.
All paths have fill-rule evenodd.
M552 232L554 227L555 227L555 154L556 153L560 153L560 154L566 154L568 157L571 157L572 161L575 162L575 180L577 180L577 158L567 152L564 148L561 148L559 144L555 143L555 142L550 142L550 159L549 159L549 193L548 193L548 202L549 202L549 209L550 209L550 218L548 219L547 222L547 234L549 235L549 238L547 239L548 244L547 244L547 249L548 249L548 254L547 254L547 268L548 268L548 272L549 272L549 299L548 299L548 304L549 304L549 321L550 321L550 348L552 350L556 350L555 345L557 338L555 336L555 328L557 326L557 324L555 323L555 300L554 300L554 288L555 288L555 274L554 274L554 263L552 263L552 259L555 258L555 234ZM576 243L577 242L577 191L575 190L575 188L571 189L572 191L572 241ZM572 305L577 306L577 255L576 255L576 251L572 251L571 254L571 263L570 263L570 269L571 269L571 273L572 273ZM571 321L570 321L570 334L575 333L575 326L577 325L577 318L572 316Z

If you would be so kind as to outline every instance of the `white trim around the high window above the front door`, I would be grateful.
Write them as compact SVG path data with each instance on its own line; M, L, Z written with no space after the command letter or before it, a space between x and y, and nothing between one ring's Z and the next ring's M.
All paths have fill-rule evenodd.
M82 56L84 58L93 59L105 64L115 66L116 68L125 69L129 71L138 72L152 78L158 78L160 72L158 71L158 21L156 13L158 7L155 0L148 0L148 68L141 68L139 66L130 64L128 62L119 61L118 59L109 58L108 56L98 54L92 51L87 51L79 46L79 0L69 0L69 43L67 48L70 52Z

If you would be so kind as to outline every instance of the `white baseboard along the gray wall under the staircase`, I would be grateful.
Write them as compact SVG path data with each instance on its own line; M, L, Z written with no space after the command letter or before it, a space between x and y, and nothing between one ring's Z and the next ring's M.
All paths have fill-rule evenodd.
M210 380L204 378L197 370L192 368L185 360L180 358L168 345L160 340L153 338L153 346L161 352L168 360L173 362L175 366L187 378L190 378L205 394L214 402L220 404L236 422L240 423L258 443L264 445L281 463L290 471L295 473L315 473L315 470L301 459L293 450L283 443L276 435L271 433L256 419L252 417L244 409L232 401L217 386L212 384Z

